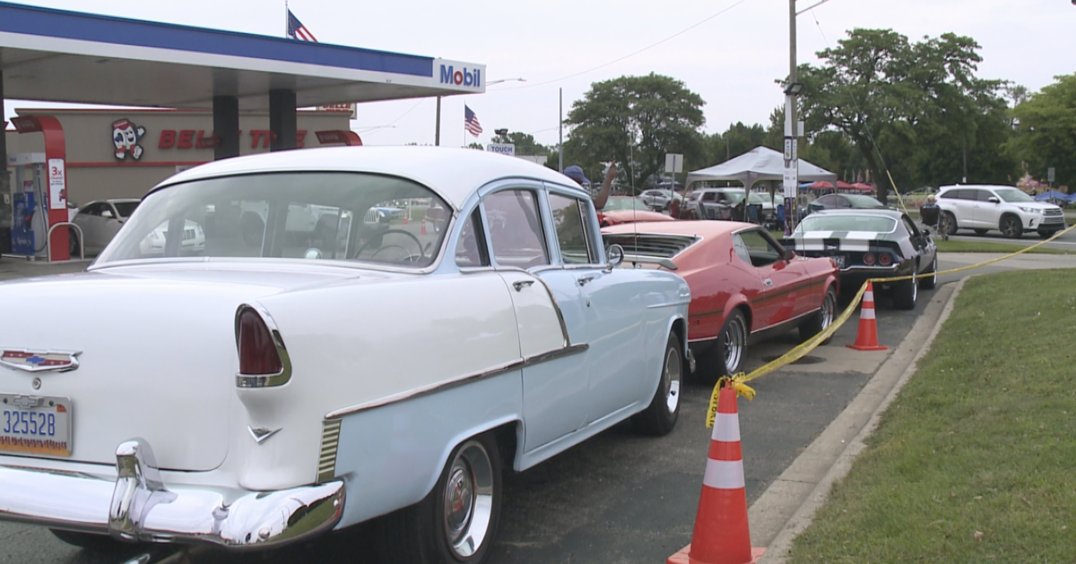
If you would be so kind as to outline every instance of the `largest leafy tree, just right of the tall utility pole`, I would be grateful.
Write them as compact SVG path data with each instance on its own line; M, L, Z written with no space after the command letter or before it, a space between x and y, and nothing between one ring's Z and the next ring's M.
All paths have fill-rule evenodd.
M883 201L887 170L904 189L937 186L960 182L966 159L969 182L1004 182L1015 171L1003 154L1007 84L975 76L978 49L952 33L910 43L892 30L853 29L819 53L821 67L799 69L807 131L845 134Z

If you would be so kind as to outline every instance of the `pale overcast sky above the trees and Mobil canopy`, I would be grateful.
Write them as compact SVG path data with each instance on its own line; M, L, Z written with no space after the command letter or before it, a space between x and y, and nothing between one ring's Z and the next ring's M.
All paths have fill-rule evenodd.
M798 0L797 8L817 2ZM283 0L22 3L266 35L285 31ZM774 81L789 71L788 0L291 0L289 6L322 43L484 63L487 81L526 78L445 98L442 145L484 144L497 128L555 143L558 89L567 114L592 83L650 72L703 97L708 133L736 121L765 125L783 99ZM1076 72L1070 0L829 0L796 20L801 62L817 62L816 52L862 27L893 29L912 41L950 31L969 35L982 46L980 77L1031 91ZM465 102L485 129L477 140L464 133ZM10 115L29 105L9 101L6 107ZM360 104L352 129L370 145L433 144L435 107L433 99Z

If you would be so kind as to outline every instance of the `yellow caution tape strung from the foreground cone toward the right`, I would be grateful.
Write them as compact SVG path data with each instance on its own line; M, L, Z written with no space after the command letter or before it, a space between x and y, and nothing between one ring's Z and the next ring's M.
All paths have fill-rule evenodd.
M789 364L792 364L793 362L795 362L795 361L797 361L797 360L806 357L808 352L810 352L810 351L815 350L816 348L818 348L818 346L821 345L822 343L825 343L831 336L833 336L834 333L837 332L838 329L840 329L841 326L845 324L846 321L848 321L848 319L852 316L852 314L855 313L855 308L859 307L860 302L863 300L863 294L867 291L867 283L892 283L892 281L902 281L902 280L916 280L916 279L919 279L919 278L925 278L928 276L935 276L935 275L942 276L944 274L953 274L953 273L958 273L958 272L969 271L972 269L979 269L979 267L982 267L982 266L987 266L989 264L993 264L995 262L1001 262L1001 261L1006 260L1006 259L1011 259L1013 257L1016 257L1018 255L1023 255L1023 254L1030 251L1031 249L1038 248L1038 247L1040 247L1040 246L1043 246L1043 245L1045 245L1047 243L1050 243L1051 241L1053 241L1053 240L1058 238L1059 236L1061 236L1061 235L1063 235L1063 234L1072 231L1073 229L1076 229L1076 223L1074 223L1073 226L1071 226L1071 227L1068 227L1068 228L1066 228L1066 229L1064 229L1062 231L1059 231L1059 232L1054 233L1053 236L1051 236L1050 238L1040 241L1040 242L1038 242L1038 243L1036 243L1034 245L1031 245L1029 247L1022 248L1022 249L1020 249L1020 250L1018 250L1016 252L1009 252L1008 255L1003 255L1001 257L997 257L997 258L994 258L994 259L990 259L990 260L987 260L987 261L982 261L982 262L979 262L979 263L976 263L976 264L971 264L971 265L967 265L967 266L961 266L959 269L950 269L950 270L947 270L947 271L940 271L940 272L936 272L936 273L931 272L931 273L924 273L924 274L909 274L909 275L906 275L906 276L892 276L892 277L889 277L889 278L868 278L866 281L863 283L863 286L860 287L860 290L858 292L855 292L855 295L852 298L851 303L848 304L848 307L846 307L845 310L841 312L840 315L837 316L837 318L834 319L832 323L830 323L830 327L825 328L825 330L823 330L821 333L819 333L819 334L815 335L813 337L807 339L806 342L797 345L795 348L793 348L792 350L785 352L783 356L781 356L781 357L779 357L777 359L774 359L774 360L767 362L766 364L763 364L762 366L759 366L758 368L755 368L754 371L750 372L749 374L744 374L741 372L741 373L739 373L739 374L737 374L736 376L733 376L733 377L722 376L721 378L719 378L718 379L718 384L714 385L714 387L713 387L713 393L710 395L710 408L709 408L709 413L706 416L706 426L707 426L707 429L710 429L710 428L713 426L713 420L714 420L714 417L716 417L716 415L718 413L718 396L721 393L721 384L723 381L728 381L730 385L736 390L736 393L738 393L738 394L747 397L748 400L753 400L754 399L754 390L752 388L750 388L749 386L747 386L747 382L749 382L749 381L751 381L751 380L753 380L755 378L765 376L766 374L769 374L769 373L771 373L771 372L774 372L774 371L776 371L778 368L781 368L781 367L784 367L784 366L787 366Z

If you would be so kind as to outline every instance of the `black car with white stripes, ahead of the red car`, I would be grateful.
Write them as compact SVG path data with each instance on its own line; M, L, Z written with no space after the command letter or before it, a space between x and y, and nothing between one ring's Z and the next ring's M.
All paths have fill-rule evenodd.
M840 287L856 291L867 278L929 274L919 280L875 285L893 305L914 309L919 289L937 284L937 245L898 209L822 209L804 218L785 244L808 257L830 257L840 269Z

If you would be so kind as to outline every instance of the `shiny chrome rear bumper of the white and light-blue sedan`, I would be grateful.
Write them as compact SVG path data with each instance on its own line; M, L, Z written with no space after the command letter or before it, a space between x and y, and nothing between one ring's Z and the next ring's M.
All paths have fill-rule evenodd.
M265 548L325 532L343 511L342 481L289 490L168 486L150 445L116 449L115 481L81 473L0 465L0 519L128 541Z

